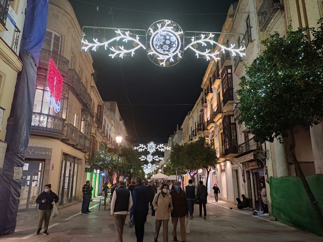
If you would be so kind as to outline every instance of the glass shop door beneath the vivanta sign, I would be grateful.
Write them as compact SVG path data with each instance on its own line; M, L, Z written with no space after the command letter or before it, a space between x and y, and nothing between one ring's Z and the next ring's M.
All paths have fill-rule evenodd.
M22 172L18 211L36 210L36 198L41 193L43 162L26 161Z

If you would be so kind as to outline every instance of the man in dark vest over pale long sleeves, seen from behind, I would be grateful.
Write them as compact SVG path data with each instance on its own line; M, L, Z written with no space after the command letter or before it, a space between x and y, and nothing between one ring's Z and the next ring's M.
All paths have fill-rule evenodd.
M123 227L132 204L131 192L126 189L126 183L123 180L119 181L111 199L110 209L118 242L122 242Z

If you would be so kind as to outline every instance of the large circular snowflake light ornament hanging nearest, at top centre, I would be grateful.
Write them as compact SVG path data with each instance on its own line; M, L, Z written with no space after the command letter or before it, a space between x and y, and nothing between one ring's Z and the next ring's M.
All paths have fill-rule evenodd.
M182 28L172 20L151 24L147 34L147 55L152 63L168 67L180 62L184 52Z

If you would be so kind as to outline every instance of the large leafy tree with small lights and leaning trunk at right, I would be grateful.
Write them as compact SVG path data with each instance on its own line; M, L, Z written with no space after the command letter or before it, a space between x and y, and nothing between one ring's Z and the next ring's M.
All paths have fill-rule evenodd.
M270 35L266 47L241 78L238 121L257 141L273 142L282 135L290 139L289 154L297 175L315 210L323 233L323 216L295 154L295 126L308 129L323 117L322 19L318 30L309 29L314 39L308 42L307 28L292 31L286 38ZM283 142L283 140L280 140Z

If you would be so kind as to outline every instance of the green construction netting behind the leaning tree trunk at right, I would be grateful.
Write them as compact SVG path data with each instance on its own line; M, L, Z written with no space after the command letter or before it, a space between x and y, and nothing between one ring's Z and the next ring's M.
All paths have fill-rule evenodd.
M323 211L323 174L306 177ZM323 235L303 184L298 177L269 178L271 209L282 223L317 235Z

